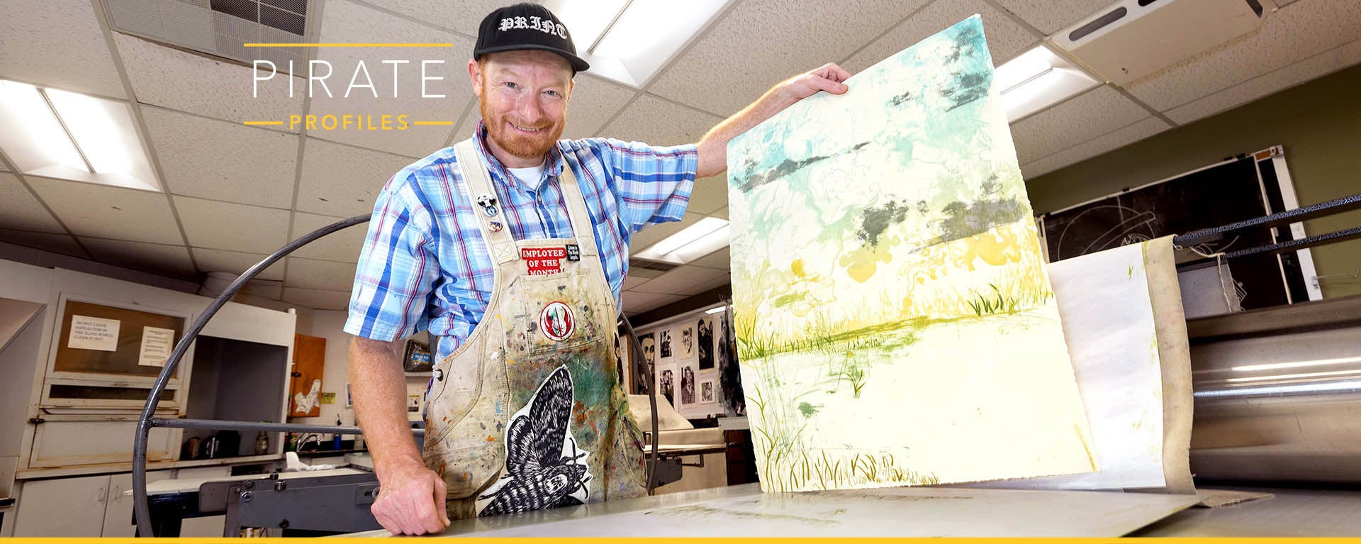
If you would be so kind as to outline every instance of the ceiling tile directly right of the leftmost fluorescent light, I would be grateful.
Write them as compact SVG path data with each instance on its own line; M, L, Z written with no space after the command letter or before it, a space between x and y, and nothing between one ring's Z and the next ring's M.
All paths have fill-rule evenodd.
M169 109L142 113L171 194L293 207L298 136Z

